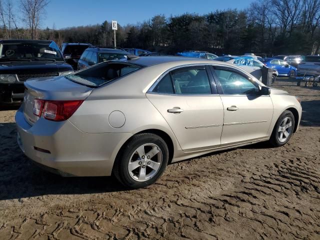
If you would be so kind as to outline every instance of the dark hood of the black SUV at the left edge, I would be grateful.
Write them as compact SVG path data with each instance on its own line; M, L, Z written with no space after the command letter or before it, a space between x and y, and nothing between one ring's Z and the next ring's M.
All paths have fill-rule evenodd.
M18 61L0 62L0 73L38 73L70 71L72 67L65 62L52 61Z

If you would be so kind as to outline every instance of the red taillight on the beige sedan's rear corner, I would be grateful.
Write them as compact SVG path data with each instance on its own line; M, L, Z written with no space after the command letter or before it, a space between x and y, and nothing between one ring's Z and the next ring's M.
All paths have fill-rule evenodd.
M34 106L38 102L42 102L39 115L33 113L37 116L40 116L41 113L45 119L52 121L64 121L68 119L75 110L81 105L83 100L70 100L70 101L53 101L53 100L41 100L34 99ZM33 106L33 109L34 109Z

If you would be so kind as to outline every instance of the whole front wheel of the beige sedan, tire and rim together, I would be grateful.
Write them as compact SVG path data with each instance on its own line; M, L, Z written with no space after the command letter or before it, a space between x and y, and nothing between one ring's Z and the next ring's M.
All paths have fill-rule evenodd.
M291 111L285 110L276 121L269 142L273 146L282 146L288 142L294 130L294 116Z

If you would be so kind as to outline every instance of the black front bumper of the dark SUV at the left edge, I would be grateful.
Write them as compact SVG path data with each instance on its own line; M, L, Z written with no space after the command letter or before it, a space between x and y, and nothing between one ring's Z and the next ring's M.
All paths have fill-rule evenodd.
M24 85L22 83L0 83L0 103L18 104L23 101Z

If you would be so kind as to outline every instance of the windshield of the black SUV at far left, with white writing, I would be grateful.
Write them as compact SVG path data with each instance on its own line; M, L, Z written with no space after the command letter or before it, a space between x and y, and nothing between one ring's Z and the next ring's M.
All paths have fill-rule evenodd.
M0 61L4 60L63 61L63 58L54 42L18 42L0 45Z

